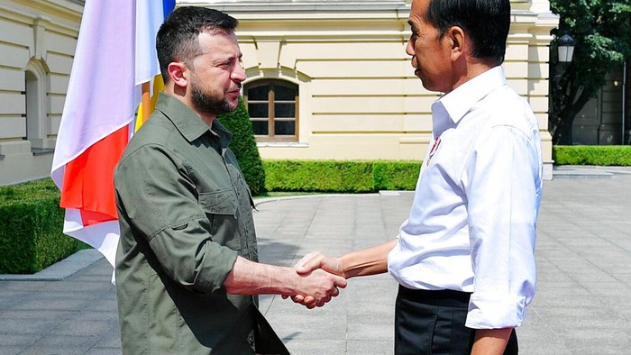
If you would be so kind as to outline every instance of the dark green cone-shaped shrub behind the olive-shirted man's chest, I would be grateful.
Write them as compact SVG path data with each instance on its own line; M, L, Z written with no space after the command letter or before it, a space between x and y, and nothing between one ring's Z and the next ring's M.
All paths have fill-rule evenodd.
M242 97L239 98L239 105L236 110L231 113L220 114L218 118L219 122L233 133L230 149L239 160L239 167L252 195L261 194L265 191L265 169L259 150L256 148L250 115L245 108Z

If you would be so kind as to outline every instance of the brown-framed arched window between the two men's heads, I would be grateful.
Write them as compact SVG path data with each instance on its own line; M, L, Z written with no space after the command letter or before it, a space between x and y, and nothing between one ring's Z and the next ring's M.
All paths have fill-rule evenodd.
M284 80L257 80L244 88L257 141L297 141L298 86Z

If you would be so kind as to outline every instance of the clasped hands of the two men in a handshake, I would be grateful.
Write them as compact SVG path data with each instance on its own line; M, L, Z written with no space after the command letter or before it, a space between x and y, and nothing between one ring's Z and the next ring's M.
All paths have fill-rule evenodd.
M319 292L309 292L291 296L291 299L306 308L321 307L340 294L339 288L346 287L346 275L340 259L326 257L319 251L306 254L294 267L303 282L312 284L310 289ZM338 288L339 287L339 288ZM283 295L287 299L288 295Z

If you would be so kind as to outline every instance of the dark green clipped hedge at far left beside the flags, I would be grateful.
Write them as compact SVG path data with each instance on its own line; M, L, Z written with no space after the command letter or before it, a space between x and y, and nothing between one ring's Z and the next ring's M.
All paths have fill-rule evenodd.
M50 179L0 187L0 273L32 274L75 252Z

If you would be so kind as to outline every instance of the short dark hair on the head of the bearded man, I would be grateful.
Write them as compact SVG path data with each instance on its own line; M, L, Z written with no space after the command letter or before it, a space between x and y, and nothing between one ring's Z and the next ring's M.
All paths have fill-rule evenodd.
M160 26L156 50L164 82L173 61L187 62L199 54L199 33L233 32L239 22L221 11L201 6L178 7Z

